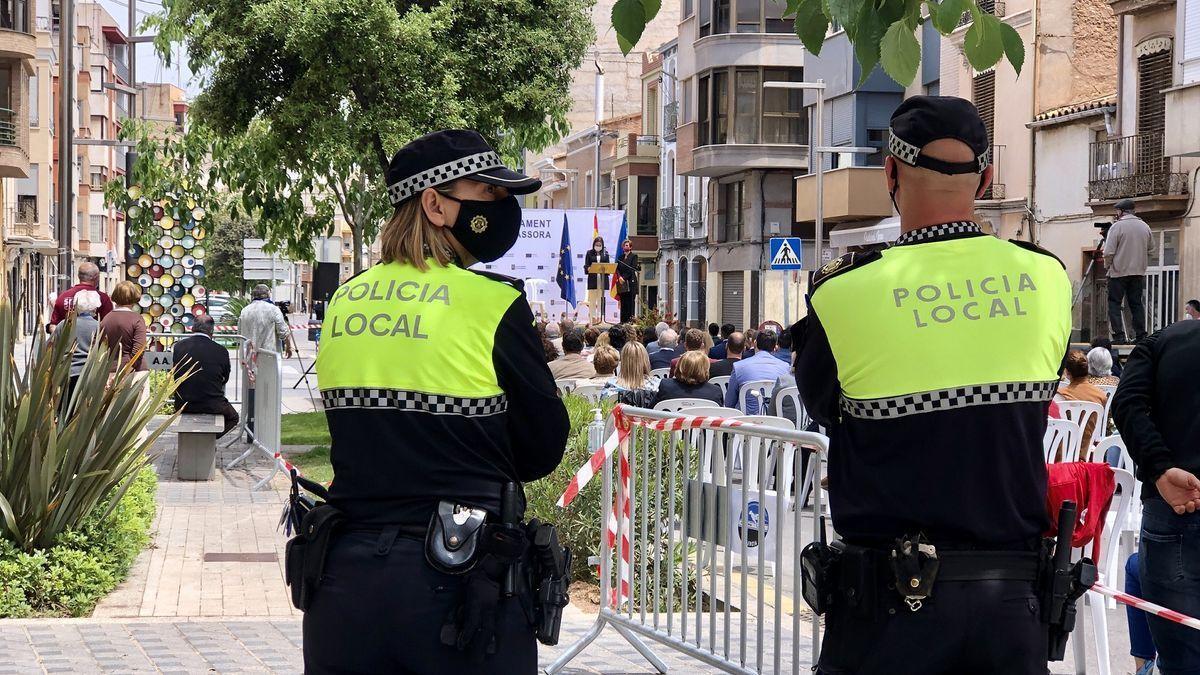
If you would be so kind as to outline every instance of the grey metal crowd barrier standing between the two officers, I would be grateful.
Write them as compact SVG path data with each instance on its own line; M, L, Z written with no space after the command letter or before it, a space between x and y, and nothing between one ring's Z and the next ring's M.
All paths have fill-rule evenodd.
M604 462L600 613L546 671L563 670L606 626L661 673L666 664L643 639L726 673L809 671L820 620L799 593L799 551L820 537L811 514L822 513L821 490L812 491L811 514L796 496L820 484L828 438L629 407L618 408L613 426L626 431ZM590 453L604 441L598 413ZM811 450L808 483L802 448ZM812 518L808 538L804 518ZM802 614L811 628L808 655Z

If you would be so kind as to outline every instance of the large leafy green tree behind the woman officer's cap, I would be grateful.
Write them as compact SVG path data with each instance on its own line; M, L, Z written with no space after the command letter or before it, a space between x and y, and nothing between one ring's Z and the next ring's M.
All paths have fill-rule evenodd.
M361 251L390 213L390 151L437 129L509 157L569 132L590 0L164 0L148 20L204 73L193 119L221 183L298 258L338 213ZM238 216L238 213L234 213ZM359 256L354 257L355 267Z

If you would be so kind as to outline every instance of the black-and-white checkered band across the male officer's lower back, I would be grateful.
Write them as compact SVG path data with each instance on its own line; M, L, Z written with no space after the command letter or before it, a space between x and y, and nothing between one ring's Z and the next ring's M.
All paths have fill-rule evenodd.
M1003 382L922 392L892 399L847 399L842 396L841 410L850 417L859 419L894 419L970 406L1049 401L1057 390L1057 380L1050 382Z

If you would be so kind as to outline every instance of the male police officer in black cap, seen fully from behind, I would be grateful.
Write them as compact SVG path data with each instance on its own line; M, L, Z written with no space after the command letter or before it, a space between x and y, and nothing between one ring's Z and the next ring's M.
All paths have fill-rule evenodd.
M1070 283L1050 253L972 222L991 167L970 102L908 98L889 149L900 238L821 268L792 328L847 544L820 668L1045 673L1042 435Z

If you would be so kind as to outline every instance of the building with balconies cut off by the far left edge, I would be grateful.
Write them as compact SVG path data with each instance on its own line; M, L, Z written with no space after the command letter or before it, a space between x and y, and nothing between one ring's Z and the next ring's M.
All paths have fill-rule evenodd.
M22 307L20 316L36 312L41 298L30 279L43 271L47 229L31 213L28 201L18 197L18 185L31 172L30 126L37 121L35 61L37 59L36 22L29 0L0 0L0 298ZM35 88L35 89L31 89ZM32 114L31 114L32 110ZM36 173L34 174L36 177ZM32 323L30 316L28 323Z

